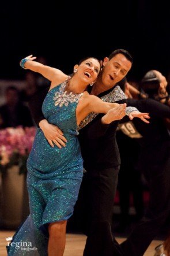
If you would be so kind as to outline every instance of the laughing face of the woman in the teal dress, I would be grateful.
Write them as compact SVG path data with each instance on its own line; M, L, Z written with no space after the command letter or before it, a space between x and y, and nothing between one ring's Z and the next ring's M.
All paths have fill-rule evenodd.
M88 58L85 61L82 61L78 66L77 75L80 75L87 84L92 83L97 79L97 76L100 72L100 64L94 58Z

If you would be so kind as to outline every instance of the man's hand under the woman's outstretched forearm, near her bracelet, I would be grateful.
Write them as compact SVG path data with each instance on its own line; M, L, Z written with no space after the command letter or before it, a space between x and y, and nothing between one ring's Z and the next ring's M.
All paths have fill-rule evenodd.
M110 109L107 112L107 114L105 114L101 118L101 123L110 124L112 123L112 121L122 119L126 115L125 109L126 109L126 103L120 104L119 106Z

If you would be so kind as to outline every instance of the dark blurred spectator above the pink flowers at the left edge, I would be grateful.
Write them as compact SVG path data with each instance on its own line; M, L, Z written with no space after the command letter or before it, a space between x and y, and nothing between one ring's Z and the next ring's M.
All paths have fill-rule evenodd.
M21 103L18 89L14 86L7 87L5 98L5 105L0 107L0 128L33 126L31 113L28 107Z

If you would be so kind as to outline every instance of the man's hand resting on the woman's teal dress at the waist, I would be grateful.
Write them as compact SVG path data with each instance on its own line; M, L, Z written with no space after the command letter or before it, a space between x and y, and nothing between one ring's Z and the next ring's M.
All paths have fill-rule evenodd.
M66 146L66 138L63 136L63 132L54 124L49 124L46 119L43 119L39 123L39 127L44 133L44 136L48 140L48 143L51 147L54 147L54 144L59 147L59 149ZM54 144L53 144L54 143Z

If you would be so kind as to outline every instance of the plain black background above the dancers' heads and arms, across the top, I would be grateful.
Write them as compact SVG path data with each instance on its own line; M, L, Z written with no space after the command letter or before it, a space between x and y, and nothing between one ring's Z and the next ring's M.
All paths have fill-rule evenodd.
M70 73L81 58L103 59L119 48L134 57L129 77L170 71L170 10L163 1L44 1L2 1L0 79L22 79L18 63L29 54Z

